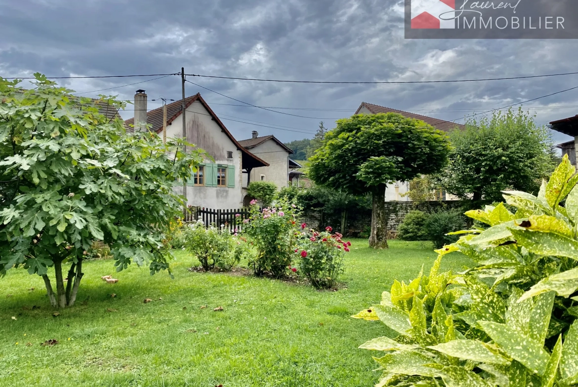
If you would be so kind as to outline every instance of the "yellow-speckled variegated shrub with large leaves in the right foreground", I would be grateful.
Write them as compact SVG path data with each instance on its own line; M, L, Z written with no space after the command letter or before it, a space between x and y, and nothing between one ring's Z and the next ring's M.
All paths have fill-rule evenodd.
M379 386L578 384L578 175L565 156L538 196L505 191L505 205L468 211L484 227L455 232L429 276L395 281L355 315L398 333L360 348L384 351ZM566 206L560 202L566 198ZM476 262L440 273L445 254Z

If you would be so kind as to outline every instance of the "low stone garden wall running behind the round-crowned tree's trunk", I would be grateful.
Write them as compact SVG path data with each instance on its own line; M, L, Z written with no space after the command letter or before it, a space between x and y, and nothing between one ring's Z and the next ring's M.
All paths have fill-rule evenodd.
M399 224L402 223L403 218L408 212L418 209L424 212L435 211L438 208L461 208L464 202L459 200L451 201L429 201L429 202L414 202L414 201L391 201L386 202L386 212L387 212L387 226L392 234L395 234ZM308 226L314 228L325 228L327 226L333 227L335 230L339 230L341 226L341 214L327 214L315 211L305 213L302 221L307 223ZM368 209L366 211L357 211L356 213L347 214L347 232L345 235L349 236L368 236L363 235L369 234L371 228L371 211ZM394 235L392 235L394 236Z

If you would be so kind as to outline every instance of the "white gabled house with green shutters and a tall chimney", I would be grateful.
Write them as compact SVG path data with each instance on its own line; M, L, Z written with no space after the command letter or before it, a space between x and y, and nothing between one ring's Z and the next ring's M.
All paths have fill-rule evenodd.
M183 137L182 101L166 105L166 138ZM163 133L163 108L147 112L147 95L138 90L135 95L135 118L127 119L127 131L149 130ZM244 148L200 93L185 99L187 141L205 150L213 160L206 159L199 165L194 178L184 187L176 187L178 194L186 193L187 204L213 209L243 206L246 185L243 176L253 168L268 167L269 163Z

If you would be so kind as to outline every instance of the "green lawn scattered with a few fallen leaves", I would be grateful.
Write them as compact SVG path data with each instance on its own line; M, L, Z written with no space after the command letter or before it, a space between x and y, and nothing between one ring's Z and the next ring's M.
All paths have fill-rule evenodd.
M366 246L353 241L338 292L188 272L198 262L183 251L174 280L134 265L109 285L100 277L113 262L91 261L77 305L58 317L40 277L9 270L0 279L0 386L372 386L372 354L357 347L390 332L350 315L379 302L393 279L428 270L435 253L423 242ZM468 263L444 258L445 269ZM59 343L39 345L50 339Z

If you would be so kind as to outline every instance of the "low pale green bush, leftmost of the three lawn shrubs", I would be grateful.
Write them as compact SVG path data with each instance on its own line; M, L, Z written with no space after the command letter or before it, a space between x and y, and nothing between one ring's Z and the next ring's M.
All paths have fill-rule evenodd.
M236 253L238 241L229 230L214 226L205 228L202 220L185 230L185 248L197 257L203 269L212 270L216 266L230 270L239 262L240 254Z

